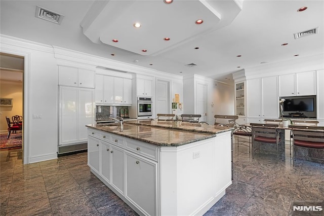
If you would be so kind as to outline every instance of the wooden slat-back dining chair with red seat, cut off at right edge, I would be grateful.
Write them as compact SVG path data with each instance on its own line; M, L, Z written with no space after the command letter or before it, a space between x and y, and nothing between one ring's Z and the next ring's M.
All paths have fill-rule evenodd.
M311 159L324 162L324 127L300 125L291 125L290 127L293 132L293 166L296 161L296 146L308 149L322 149L321 153L316 152L315 154L320 158L313 158L309 152L307 156L310 155Z

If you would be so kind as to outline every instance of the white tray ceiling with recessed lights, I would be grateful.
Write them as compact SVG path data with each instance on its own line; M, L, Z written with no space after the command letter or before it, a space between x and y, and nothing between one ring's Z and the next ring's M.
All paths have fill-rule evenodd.
M260 63L324 53L324 1L2 0L0 4L1 34L181 76L198 74L228 82L232 73ZM36 18L36 6L64 17L60 24ZM304 6L305 11L297 12ZM204 22L195 24L198 19ZM135 28L135 22L141 27ZM295 39L294 33L316 27L316 34ZM167 37L169 41L164 40ZM186 66L191 63L196 66Z

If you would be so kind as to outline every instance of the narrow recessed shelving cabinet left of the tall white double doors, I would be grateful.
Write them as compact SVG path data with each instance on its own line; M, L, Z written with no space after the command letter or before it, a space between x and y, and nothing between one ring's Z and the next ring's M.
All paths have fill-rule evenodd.
M245 82L235 83L235 115L246 115Z

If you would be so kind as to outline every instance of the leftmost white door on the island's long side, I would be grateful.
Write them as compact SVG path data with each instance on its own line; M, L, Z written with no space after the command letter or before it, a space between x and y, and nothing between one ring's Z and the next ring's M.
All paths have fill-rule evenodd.
M99 139L88 137L88 165L99 173Z

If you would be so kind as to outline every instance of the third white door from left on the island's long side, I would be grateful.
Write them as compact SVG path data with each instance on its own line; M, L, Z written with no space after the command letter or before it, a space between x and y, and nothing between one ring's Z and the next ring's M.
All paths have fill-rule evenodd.
M112 146L110 148L111 157L111 185L118 190L119 193L124 195L124 170L125 170L125 154L124 150Z

